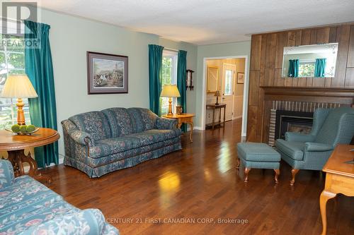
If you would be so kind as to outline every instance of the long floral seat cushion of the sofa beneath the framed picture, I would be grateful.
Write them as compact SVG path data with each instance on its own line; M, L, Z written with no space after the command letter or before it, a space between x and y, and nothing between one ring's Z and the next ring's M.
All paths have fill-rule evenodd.
M137 147L152 145L164 140L169 140L181 136L180 129L157 130L152 129L141 133L132 133L118 138L108 138L99 140L96 146L90 147L90 157L104 157L118 152L125 152Z

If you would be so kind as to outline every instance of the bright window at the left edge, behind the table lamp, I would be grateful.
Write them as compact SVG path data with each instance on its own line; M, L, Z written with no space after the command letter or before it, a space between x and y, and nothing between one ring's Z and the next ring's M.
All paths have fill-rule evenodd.
M4 43L7 41L16 42L22 40L22 37L13 35L0 35L0 92L4 88L8 74L25 73L25 49L24 47L13 46L13 43ZM10 47L8 46L10 45ZM11 46L12 45L12 46ZM17 123L16 99L0 98L0 129ZM28 109L28 99L23 99L25 107L26 124L30 123L30 112Z

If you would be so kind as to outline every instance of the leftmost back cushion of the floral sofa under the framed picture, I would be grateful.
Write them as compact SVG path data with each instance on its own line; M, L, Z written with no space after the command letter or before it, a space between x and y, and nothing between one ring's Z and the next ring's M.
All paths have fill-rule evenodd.
M94 140L110 138L110 125L103 112L87 112L69 118L80 131L89 133Z

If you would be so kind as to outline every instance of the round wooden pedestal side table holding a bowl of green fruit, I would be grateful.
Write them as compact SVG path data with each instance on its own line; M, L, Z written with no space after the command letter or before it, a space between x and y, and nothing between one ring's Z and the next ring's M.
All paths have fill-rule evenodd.
M45 176L38 172L37 162L30 156L25 155L25 148L40 147L49 145L59 139L60 135L57 131L50 128L40 128L37 132L31 135L17 135L10 131L0 130L0 151L8 152L8 160L13 165L13 171L16 177L25 174L23 162L30 165L28 175L38 180L46 180L50 183L50 176Z

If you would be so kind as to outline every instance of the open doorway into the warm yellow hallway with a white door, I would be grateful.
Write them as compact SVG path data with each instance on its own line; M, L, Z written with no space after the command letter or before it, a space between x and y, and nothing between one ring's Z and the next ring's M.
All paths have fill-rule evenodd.
M246 102L248 90L247 83L247 56L217 57L204 59L204 80L202 105L202 126L212 123L212 110L206 109L207 104L226 104L226 121L242 121L241 135L246 136ZM217 92L218 91L218 92ZM220 97L216 97L219 93ZM224 109L215 112L215 120L224 117Z

